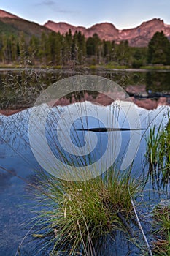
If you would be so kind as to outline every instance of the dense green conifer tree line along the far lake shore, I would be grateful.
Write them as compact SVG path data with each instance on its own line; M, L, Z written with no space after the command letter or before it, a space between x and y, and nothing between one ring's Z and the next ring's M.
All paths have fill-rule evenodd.
M66 34L51 32L41 37L26 38L23 32L15 35L0 34L0 63L32 65L71 65L71 64L112 64L141 67L146 64L170 64L170 42L163 31L156 32L147 47L131 47L128 41L116 44L115 41L101 40L98 34L85 39L85 36L71 30Z

